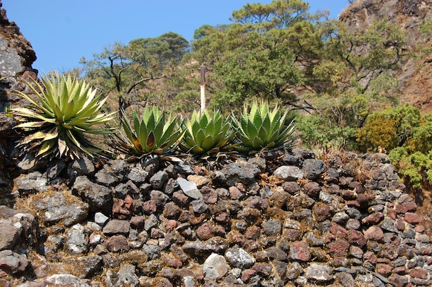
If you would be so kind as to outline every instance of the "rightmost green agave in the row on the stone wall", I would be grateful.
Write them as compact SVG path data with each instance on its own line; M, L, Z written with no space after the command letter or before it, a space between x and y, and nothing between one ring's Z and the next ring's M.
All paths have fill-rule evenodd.
M259 150L285 148L291 150L295 144L293 121L286 125L288 110L283 114L276 106L270 110L267 102L252 104L250 110L244 106L239 120L233 116L236 138L240 142L238 150L256 153Z

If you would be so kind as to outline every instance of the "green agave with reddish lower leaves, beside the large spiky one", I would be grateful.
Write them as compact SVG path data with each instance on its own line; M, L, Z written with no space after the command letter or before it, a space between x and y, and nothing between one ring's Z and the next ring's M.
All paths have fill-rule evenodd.
M142 119L139 119L136 110L132 110L132 123L122 110L121 126L124 133L115 135L113 147L134 156L167 154L177 146L184 135L179 128L177 117L172 119L168 114L166 119L164 110L159 110L157 106L147 106Z

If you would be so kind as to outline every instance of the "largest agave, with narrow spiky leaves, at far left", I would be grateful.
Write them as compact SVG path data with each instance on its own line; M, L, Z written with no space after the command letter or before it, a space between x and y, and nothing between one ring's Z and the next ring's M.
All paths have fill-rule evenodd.
M19 124L26 132L19 143L22 152L34 151L37 158L79 158L86 154L94 156L103 150L90 141L89 135L112 132L104 124L115 113L101 112L106 98L91 88L86 81L57 72L51 77L44 75L43 86L36 80L27 82L37 99L20 91L15 94L30 102L26 107L13 108L19 116Z

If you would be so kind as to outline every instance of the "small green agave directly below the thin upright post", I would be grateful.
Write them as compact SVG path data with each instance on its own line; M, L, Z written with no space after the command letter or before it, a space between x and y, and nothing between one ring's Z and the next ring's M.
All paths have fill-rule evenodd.
M222 150L233 149L229 141L233 138L230 118L224 119L219 111L213 117L206 111L194 111L192 117L184 122L185 134L180 148L195 155L210 155Z

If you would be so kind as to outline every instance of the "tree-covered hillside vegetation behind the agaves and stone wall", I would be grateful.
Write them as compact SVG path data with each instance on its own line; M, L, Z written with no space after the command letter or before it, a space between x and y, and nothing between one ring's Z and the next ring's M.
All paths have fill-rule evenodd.
M112 110L155 105L188 116L199 110L205 66L210 110L228 115L266 99L291 110L302 146L323 156L387 152L405 184L427 189L432 116L404 88L407 70L430 57L431 23L419 15L431 7L404 1L384 13L369 2L351 3L340 20L300 0L247 4L230 24L197 28L190 43L174 32L112 43L72 73L109 95Z

